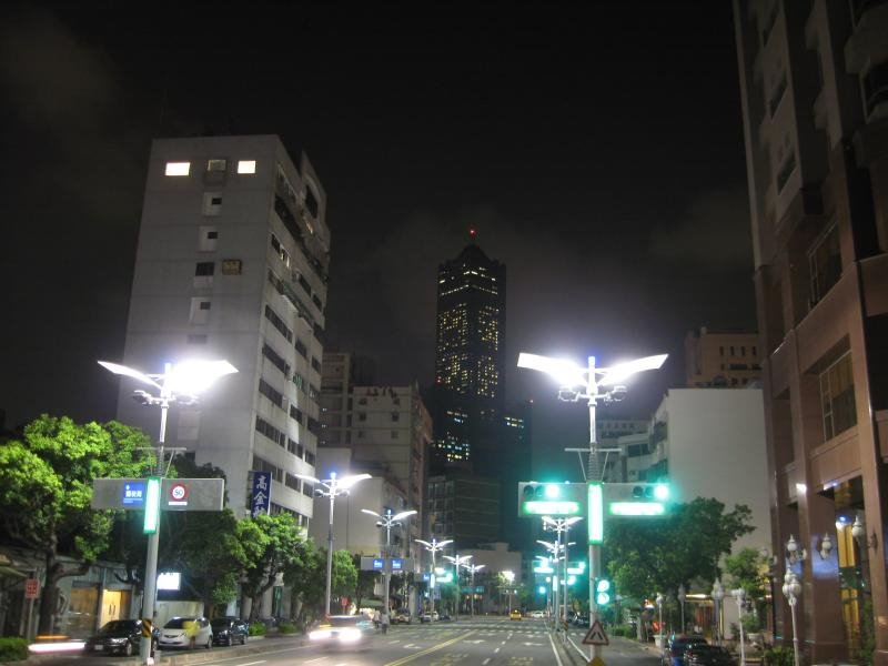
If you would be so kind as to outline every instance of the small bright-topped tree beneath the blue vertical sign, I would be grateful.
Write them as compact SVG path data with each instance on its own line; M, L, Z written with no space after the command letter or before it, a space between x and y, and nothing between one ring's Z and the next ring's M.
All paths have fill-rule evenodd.
M289 513L275 515L260 514L253 518L241 521L244 529L251 533L260 553L244 576L243 591L250 597L250 620L259 618L260 599L265 591L271 589L278 579L291 566L296 556L296 545L303 541L296 523Z

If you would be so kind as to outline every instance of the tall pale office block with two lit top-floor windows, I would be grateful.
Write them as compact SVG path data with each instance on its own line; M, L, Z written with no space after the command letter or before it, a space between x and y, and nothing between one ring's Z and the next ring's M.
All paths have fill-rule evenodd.
M226 359L238 374L195 406L173 406L167 445L224 470L228 501L251 509L253 471L271 473L272 512L307 526L320 432L330 232L305 155L274 135L154 141L123 362L144 372ZM158 413L122 382L121 421L157 433Z

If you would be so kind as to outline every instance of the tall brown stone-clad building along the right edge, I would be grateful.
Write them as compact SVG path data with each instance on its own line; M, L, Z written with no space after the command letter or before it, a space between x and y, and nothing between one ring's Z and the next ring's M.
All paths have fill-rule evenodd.
M860 659L875 634L885 665L888 4L735 0L734 18L773 548L783 566L794 535L808 554L806 660Z

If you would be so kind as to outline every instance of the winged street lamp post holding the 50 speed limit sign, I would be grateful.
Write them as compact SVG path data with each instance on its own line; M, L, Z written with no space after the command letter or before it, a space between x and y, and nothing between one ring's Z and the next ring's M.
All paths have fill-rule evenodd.
M160 433L157 447L158 467L155 472L159 477L163 477L165 473L163 468L163 451L167 440L167 412L170 410L170 405L173 403L193 405L198 402L198 395L215 380L238 372L228 361L184 361L175 365L164 363L162 374L145 374L109 361L99 361L99 365L117 375L131 377L159 391L160 395L158 396L151 395L143 390L135 391L133 395L135 400L145 406L160 407ZM159 545L160 515L158 516L158 525L154 532L148 535L145 578L142 593L142 617L152 623L154 620L154 597L158 594ZM139 644L139 656L143 664L152 663L150 636L142 636L142 640Z

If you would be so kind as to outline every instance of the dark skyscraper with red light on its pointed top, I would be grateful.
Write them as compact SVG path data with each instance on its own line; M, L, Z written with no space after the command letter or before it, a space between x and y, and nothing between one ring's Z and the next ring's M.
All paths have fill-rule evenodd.
M491 474L504 415L506 268L472 235L438 266L434 446L447 467Z

